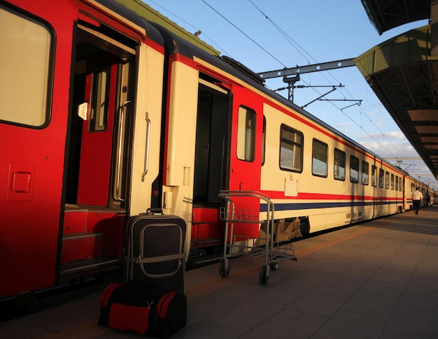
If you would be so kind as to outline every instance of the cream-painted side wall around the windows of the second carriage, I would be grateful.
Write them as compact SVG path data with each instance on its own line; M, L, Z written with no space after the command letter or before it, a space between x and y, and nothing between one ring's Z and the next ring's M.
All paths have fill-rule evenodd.
M346 196L350 194L355 194L358 196L375 196L379 194L381 196L393 197L400 196L401 192L396 192L391 189L383 189L379 191L379 188L372 187L372 185L362 185L362 178L360 175L360 182L358 184L352 184L349 178L350 172L350 155L353 154L360 159L360 171L362 170L362 159L364 159L363 154L355 152L351 147L347 147L343 143L339 143L327 135L321 133L320 131L309 127L298 120L295 120L288 115L283 114L280 110L264 104L264 115L267 120L266 124L266 160L262 166L262 177L261 177L261 189L264 191L274 191L274 192L284 192L285 186L295 184L297 185L298 192L305 192L309 194L344 194ZM281 171L279 168L279 149L280 149L280 127L281 124L287 124L288 126L301 131L304 134L304 165L303 173L295 173L289 171ZM328 158L328 175L327 178L318 178L311 174L311 143L312 139L317 138L328 144L329 147L329 158ZM333 150L334 147L339 148L346 152L346 180L339 181L334 180L334 162L333 162ZM369 168L371 169L373 161L371 158L367 157L366 161L369 163ZM380 168L380 162L377 164ZM384 166L386 171L390 171L387 166ZM399 173L395 173L399 175ZM352 189L354 191L352 192ZM273 199L274 203L288 203L291 202L286 196L285 199ZM292 202L301 202L295 200ZM308 202L308 201L302 201ZM321 201L324 202L324 201ZM332 200L327 200L327 202L333 202ZM311 228L313 231L325 229L327 226L339 226L350 220L346 215L351 212L362 212L362 219L369 217L376 217L379 215L384 215L388 213L397 212L397 207L395 205L376 205L376 206L356 206L354 211L350 207L339 207L332 208L329 210L324 208L318 209L307 209L307 210L276 210L276 218L285 217L297 217L297 216L309 216L311 218ZM325 214L330 213L330 217ZM353 221L355 217L352 217L350 221Z

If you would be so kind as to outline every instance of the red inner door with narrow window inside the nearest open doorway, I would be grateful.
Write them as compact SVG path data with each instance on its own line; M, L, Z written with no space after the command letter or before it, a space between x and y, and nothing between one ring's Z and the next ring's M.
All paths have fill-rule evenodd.
M99 57L99 61L87 62L84 93L87 117L82 124L76 201L79 205L107 206L124 200L122 188L125 185L122 182L125 176L121 175L120 184L114 187L115 199L111 199L109 194L112 188L109 183L111 174L117 175L111 161L113 147L118 161L125 158L122 156L124 148L120 145L122 137L117 132L121 136L125 135L129 101L120 105L121 96L127 95L118 93L118 81L122 80L118 75L128 65L126 61L119 61L113 55L103 55ZM125 73L127 71L129 69ZM126 90L128 86L121 83L119 88ZM81 105L79 107L81 109ZM118 143L113 144L114 138L118 138Z

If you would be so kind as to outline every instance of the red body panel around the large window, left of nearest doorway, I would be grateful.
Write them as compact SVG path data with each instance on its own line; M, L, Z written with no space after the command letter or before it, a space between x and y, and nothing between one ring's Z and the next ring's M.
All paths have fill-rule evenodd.
M69 112L71 41L78 12L76 1L57 1L57 6L47 6L44 0L9 2L50 22L56 37L56 54L48 126L31 129L0 124L0 144L3 145L0 157L0 257L7 258L1 262L0 297L55 282ZM20 165L14 168L17 164ZM22 168L22 164L29 167ZM14 173L20 172L29 173L27 193L18 192L20 187L26 187L22 181L26 178L22 175L13 178ZM17 188L12 196L11 180L15 180L13 185ZM21 194L28 194L27 199L15 199Z

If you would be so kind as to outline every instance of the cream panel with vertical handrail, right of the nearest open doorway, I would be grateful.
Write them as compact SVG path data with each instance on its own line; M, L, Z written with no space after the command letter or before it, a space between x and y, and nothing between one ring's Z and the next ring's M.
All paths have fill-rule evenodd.
M164 56L157 50L142 44L139 50L139 78L134 112L134 152L129 196L130 215L138 215L150 208L152 183L160 171L163 72ZM146 113L150 120L148 172L142 181L148 130Z

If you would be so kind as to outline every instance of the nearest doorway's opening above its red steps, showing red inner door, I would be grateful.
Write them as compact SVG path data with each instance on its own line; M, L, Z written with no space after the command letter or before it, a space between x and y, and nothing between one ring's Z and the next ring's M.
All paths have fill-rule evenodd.
M123 207L134 50L92 48L99 38L90 31L78 36L66 202Z

